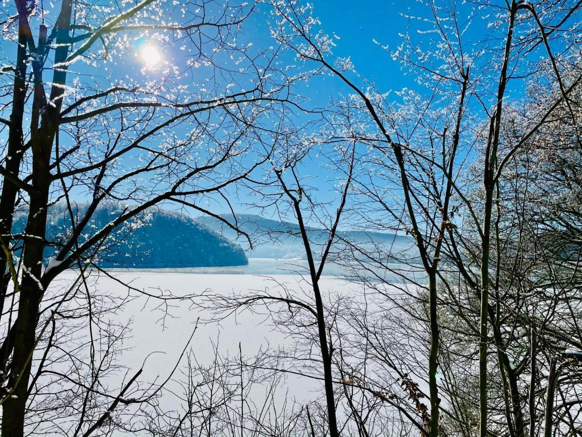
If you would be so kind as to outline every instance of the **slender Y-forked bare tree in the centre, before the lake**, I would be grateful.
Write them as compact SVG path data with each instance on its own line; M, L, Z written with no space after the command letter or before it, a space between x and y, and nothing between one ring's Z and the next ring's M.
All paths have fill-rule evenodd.
M310 111L314 112L314 111ZM325 123L327 125L327 123ZM310 126L312 128L313 126ZM319 159L315 158L318 156ZM333 181L340 185L338 189L338 199L328 200L327 202L318 201L316 189L314 189L309 177L304 175L302 169L306 163L312 159L317 159L321 167L331 166ZM297 221L297 238L300 239L304 248L304 255L307 260L307 277L309 288L313 292L313 302L304 301L293 295L283 294L259 294L259 295L242 295L224 299L212 298L211 301L222 302L218 309L230 310L241 306L260 305L264 302L271 302L269 311L278 312L278 306L288 305L297 307L299 311L307 311L307 317L313 318L313 323L306 322L307 325L314 325L317 334L314 335L313 341L317 344L320 351L322 380L325 390L325 411L327 413L327 428L329 435L339 436L338 418L336 410L338 401L336 400L334 388L334 371L333 361L336 353L333 346L333 320L329 320L328 309L326 308L326 296L320 288L321 276L324 268L335 255L335 245L338 243L337 233L343 218L343 212L346 208L346 202L354 172L356 172L356 143L352 140L346 143L335 144L320 140L318 136L297 136L293 132L279 134L276 142L276 151L271 157L272 168L268 171L267 177L263 182L255 181L255 186L250 188L264 198L265 210L274 209L278 212L279 217L286 218L291 216L292 220ZM258 186L256 186L258 184ZM329 208L335 207L335 213L329 212ZM235 225L235 223L233 223ZM323 231L316 231L318 237L324 232L324 242L321 238L314 241L313 225L323 226ZM290 230L290 232L294 232ZM276 232L274 232L276 234ZM272 235L276 238L276 235ZM311 300L311 299L309 299ZM281 308L284 308L281 307ZM289 320L293 326L295 320ZM300 322L303 323L303 322ZM306 410L307 411L307 410ZM311 420L311 419L310 419Z

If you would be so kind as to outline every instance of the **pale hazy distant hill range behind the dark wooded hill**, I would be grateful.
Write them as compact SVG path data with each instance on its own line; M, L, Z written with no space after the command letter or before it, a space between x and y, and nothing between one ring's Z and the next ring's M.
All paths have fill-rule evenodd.
M240 242L247 255L253 258L286 258L304 259L305 249L301 241L299 225L286 221L271 220L254 214L236 214L236 222L232 214L222 216L229 223L235 224L246 232L253 249L249 250L246 237L237 232L218 218L210 216L197 217L196 220L208 225L219 234L233 241ZM314 249L324 245L329 238L329 231L317 227L308 227L307 235ZM238 237L238 238L237 238ZM386 232L370 231L339 231L336 239L336 249L341 249L345 242L356 244L368 251L391 253L391 260L414 260L417 249L414 239L409 235L396 235Z

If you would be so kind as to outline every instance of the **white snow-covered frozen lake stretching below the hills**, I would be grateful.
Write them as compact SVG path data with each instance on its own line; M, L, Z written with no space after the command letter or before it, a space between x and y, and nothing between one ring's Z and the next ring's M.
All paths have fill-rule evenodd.
M402 272L414 276L410 270L403 269ZM87 290L93 296L94 305L113 309L100 315L100 325L112 323L128 328L125 338L119 339L115 346L118 351L115 358L122 367L108 376L107 385L116 393L124 381L143 369L139 386L155 386L173 372L172 381L165 386L158 403L162 411L181 414L186 396L183 381L189 361L211 369L217 362L234 360L236 363L240 354L245 363L252 363L256 362L253 360L258 355L284 351L281 352L283 355L291 353L300 360L313 361L313 367L299 375L286 373L281 389L269 396L274 396L278 403L286 400L299 405L321 398L323 387L317 374L320 358L317 345L310 339L311 328L308 325L300 329L283 326L276 318L269 316L266 305L258 305L257 311L231 311L228 314L218 314L210 309L221 304L222 298L233 295L285 295L311 302L313 291L309 277L301 273L307 273L304 261L264 259L250 259L249 265L240 267L118 269L109 271L110 276L90 272ZM78 274L75 270L63 273L52 284L52 290L62 293ZM338 277L349 274L342 272L338 266L332 266L325 274L327 276L320 279L320 288L326 304L340 302L342 297L360 299L363 295L362 284ZM383 287L408 287L396 285L405 280L399 274L392 275L395 285L386 284ZM80 303L84 294L83 286L79 292ZM279 307L285 319L290 310L286 304ZM297 307L293 311L300 309ZM303 317L308 323L313 318L309 313ZM79 330L72 334L79 340L87 339L88 335L88 326L79 326ZM88 353L89 350L84 348L77 351L79 358ZM59 367L68 367L66 361L61 362ZM285 361L282 366L285 367ZM253 402L260 404L266 399L270 380L271 377L252 386L249 396Z

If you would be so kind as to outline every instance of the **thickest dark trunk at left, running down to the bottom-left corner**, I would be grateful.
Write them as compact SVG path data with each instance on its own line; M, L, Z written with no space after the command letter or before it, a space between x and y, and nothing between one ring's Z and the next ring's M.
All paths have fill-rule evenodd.
M31 137L33 153L33 191L30 193L30 208L24 239L23 275L20 284L18 316L15 322L15 341L12 362L10 364L10 396L2 405L2 436L23 437L24 418L28 397L30 369L36 348L36 329L38 310L42 294L40 279L45 247L49 189L51 175L49 164L59 124L63 85L66 82L66 67L62 66L69 52L69 26L72 14L72 0L64 0L61 13L55 24L57 29L55 64L61 65L55 70L51 89L51 104L45 107L38 135ZM31 129L31 132L36 129Z

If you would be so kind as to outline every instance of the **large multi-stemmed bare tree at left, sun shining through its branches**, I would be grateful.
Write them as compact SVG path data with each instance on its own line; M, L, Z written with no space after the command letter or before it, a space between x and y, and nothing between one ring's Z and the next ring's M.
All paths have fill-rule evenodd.
M79 408L69 431L90 435L113 410L157 396L127 397L140 372L119 394L101 385L116 366L125 327L100 318L115 304L101 305L108 297L89 291L85 272L118 241L121 227L129 232L152 207L177 202L208 212L203 199L222 199L267 160L274 120L298 101L276 48L243 42L254 10L247 3L152 0L107 7L18 0L3 10L2 435L59 429L59 415L48 410L47 420L34 420L29 407L41 398L53 412L61 401ZM90 201L78 206L79 196ZM46 232L57 202L66 205L71 224L58 239ZM94 228L94 214L108 202L125 206ZM13 234L23 216L26 228ZM79 268L79 279L52 294L49 286L70 267ZM88 330L77 338L90 351L87 361L69 349L74 337L66 345L59 340L75 325ZM55 358L63 348L65 357ZM66 361L74 369L69 376L51 370ZM71 383L70 397L59 399L54 384L42 383L51 374ZM110 402L105 407L97 398Z

